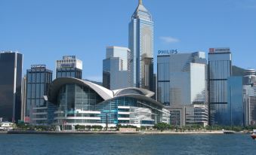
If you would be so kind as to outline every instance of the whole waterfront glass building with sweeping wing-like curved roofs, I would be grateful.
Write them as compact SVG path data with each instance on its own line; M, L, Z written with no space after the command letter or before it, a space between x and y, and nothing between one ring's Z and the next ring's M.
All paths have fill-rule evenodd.
M151 99L149 90L107 90L74 78L58 78L51 84L49 102L57 105L55 124L69 126L154 126L168 123L168 111Z

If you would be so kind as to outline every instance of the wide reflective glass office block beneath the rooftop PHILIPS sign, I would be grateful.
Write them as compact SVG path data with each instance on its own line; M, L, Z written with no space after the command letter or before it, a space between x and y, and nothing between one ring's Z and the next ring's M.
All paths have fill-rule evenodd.
M158 101L166 106L205 104L206 62L203 52L159 55Z

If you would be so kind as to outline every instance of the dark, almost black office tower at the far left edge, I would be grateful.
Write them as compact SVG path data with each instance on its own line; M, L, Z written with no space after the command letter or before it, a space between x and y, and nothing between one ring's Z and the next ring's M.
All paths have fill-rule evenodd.
M3 120L20 120L22 65L21 53L0 53L0 117Z

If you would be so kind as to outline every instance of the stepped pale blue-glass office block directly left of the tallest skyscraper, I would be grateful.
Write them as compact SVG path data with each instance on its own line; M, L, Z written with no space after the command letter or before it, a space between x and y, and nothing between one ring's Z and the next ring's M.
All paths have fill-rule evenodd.
M131 50L125 47L106 47L103 59L103 87L119 90L131 85Z

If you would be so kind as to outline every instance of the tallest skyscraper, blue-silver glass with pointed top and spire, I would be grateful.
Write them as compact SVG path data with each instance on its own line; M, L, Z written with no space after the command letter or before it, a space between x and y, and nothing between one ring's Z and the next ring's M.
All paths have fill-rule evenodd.
M131 83L134 87L153 90L153 46L153 19L140 0L129 23Z

